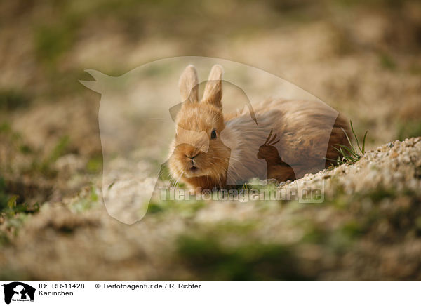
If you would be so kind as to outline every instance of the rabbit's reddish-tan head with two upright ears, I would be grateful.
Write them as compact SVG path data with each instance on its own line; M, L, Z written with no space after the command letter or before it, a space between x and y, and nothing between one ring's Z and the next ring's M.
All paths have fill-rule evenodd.
M223 180L230 149L221 140L225 128L222 115L222 67L212 67L203 98L194 66L182 72L179 81L182 107L175 117L176 133L168 166L173 178L207 177ZM221 181L222 183L222 181Z

